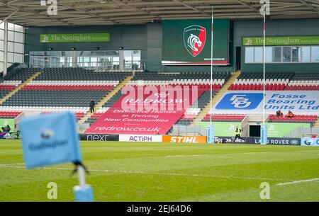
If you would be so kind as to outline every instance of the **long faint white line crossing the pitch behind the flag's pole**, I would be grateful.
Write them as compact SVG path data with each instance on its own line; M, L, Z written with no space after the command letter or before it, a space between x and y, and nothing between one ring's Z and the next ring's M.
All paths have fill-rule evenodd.
M0 166L0 168L16 168L25 169L25 166L14 166L15 164L2 164L6 166ZM73 171L74 169L62 168L62 167L42 167L39 169L54 169L54 170L67 170ZM186 177L201 177L201 178L235 178L240 180L268 180L268 181L289 181L287 179L279 178L252 178L252 177L240 177L240 176L215 176L215 175L202 175L202 174L174 174L174 173L160 173L160 172L143 172L143 171L123 171L123 170L108 170L108 169L89 169L92 172L106 172L106 173L121 173L121 174L142 174L142 175L162 175L162 176L186 176Z

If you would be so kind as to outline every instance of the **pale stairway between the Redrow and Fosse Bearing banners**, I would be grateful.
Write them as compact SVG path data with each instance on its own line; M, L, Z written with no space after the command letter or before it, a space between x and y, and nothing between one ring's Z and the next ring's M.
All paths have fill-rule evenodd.
M211 98L213 105L219 101L219 99L228 91L228 88L233 82L237 79L237 77L240 76L240 70L235 72L232 76L230 76L230 79L225 82L225 84L222 86L221 89ZM207 113L211 110L211 103L208 103L202 110L201 113L198 113L197 117L193 120L191 125L198 125L201 123L203 118L206 116Z

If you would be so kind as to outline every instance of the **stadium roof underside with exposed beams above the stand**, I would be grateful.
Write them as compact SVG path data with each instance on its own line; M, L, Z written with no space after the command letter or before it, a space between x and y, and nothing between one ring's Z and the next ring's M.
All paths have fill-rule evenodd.
M129 25L169 19L260 18L259 0L57 0L49 16L40 0L0 0L0 19L26 26ZM13 13L13 14L12 14ZM271 1L270 18L318 18L318 0Z

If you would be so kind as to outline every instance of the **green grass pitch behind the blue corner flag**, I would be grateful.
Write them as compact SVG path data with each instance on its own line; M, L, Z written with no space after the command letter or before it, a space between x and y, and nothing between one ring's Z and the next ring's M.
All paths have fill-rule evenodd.
M247 144L82 142L97 201L319 201L319 148ZM0 201L73 201L72 164L27 170L21 143L0 140ZM47 183L57 183L57 200Z

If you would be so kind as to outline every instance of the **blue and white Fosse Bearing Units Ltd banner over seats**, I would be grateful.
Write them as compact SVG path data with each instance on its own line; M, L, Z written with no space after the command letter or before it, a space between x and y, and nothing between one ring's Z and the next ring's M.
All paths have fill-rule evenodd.
M264 100L264 109L263 109ZM227 91L211 113L274 114L277 110L295 114L319 114L318 91Z

